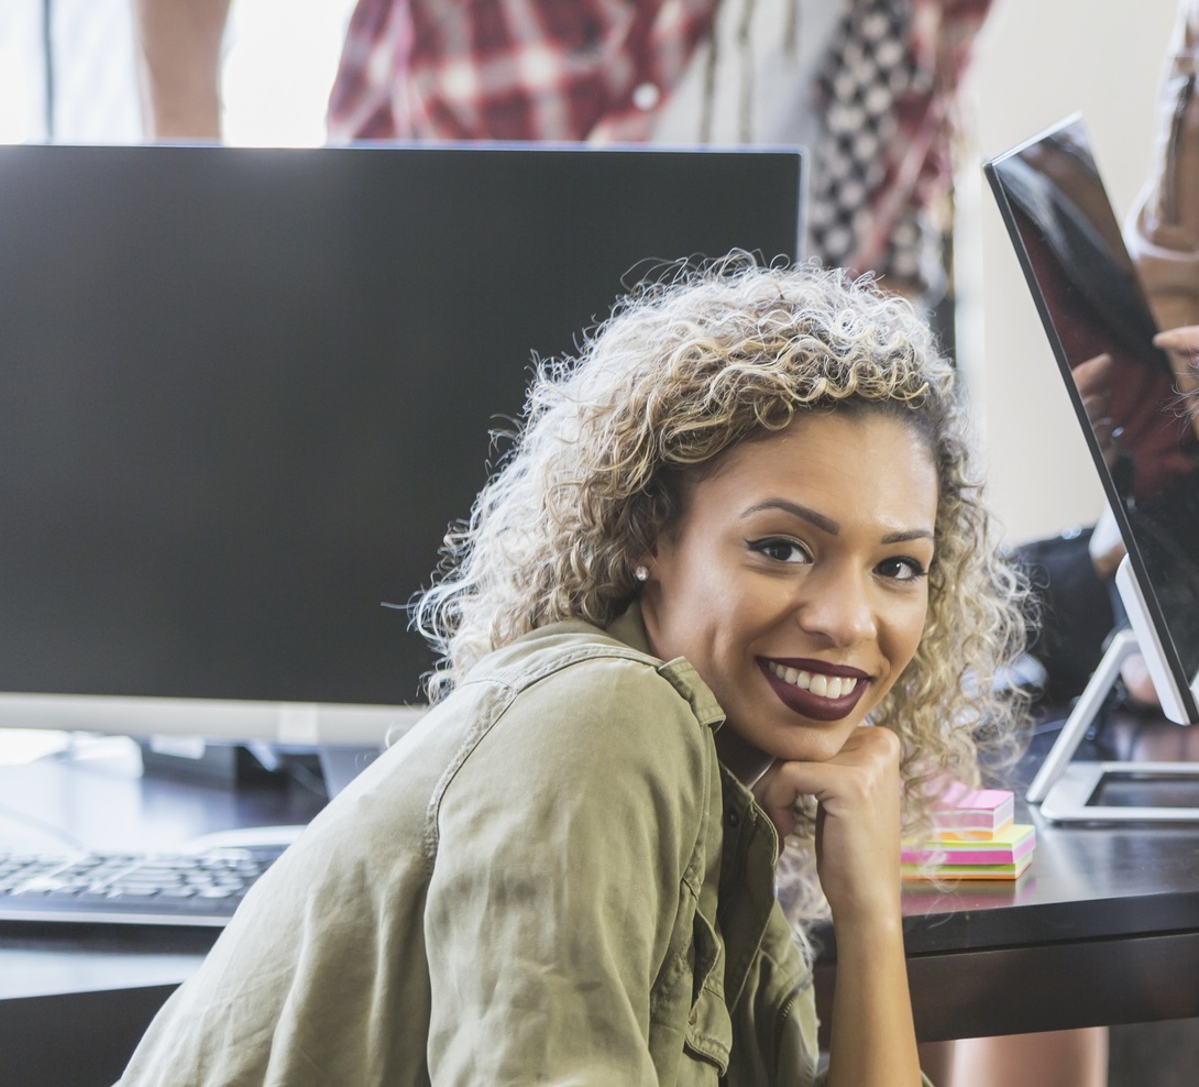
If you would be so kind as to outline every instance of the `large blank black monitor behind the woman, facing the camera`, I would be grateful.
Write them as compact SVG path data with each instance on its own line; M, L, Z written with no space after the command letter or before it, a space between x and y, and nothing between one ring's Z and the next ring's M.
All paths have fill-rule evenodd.
M795 149L0 148L0 723L418 702L385 605L534 356L668 262L796 258L801 192Z

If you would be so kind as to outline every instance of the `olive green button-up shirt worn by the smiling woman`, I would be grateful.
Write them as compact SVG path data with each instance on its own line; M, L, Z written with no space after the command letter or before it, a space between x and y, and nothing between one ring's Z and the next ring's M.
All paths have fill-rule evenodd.
M722 720L635 607L492 654L259 881L121 1087L814 1082Z

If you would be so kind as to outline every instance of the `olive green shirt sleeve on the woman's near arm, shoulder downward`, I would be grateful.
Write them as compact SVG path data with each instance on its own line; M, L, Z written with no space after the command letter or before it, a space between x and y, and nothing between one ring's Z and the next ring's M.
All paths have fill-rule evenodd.
M658 1083L651 991L712 787L705 732L652 667L589 661L520 693L457 769L426 908L434 1085Z

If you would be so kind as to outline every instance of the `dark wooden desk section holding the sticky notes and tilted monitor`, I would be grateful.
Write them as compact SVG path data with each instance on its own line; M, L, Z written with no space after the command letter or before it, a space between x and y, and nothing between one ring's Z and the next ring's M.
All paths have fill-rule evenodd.
M1199 761L1199 727L1115 714L1102 739L1093 757ZM1030 761L1020 781L1035 769ZM1056 825L1019 792L1016 817L1037 829L1019 881L904 894L921 1041L1199 1016L1199 825ZM823 1023L836 959L825 938Z

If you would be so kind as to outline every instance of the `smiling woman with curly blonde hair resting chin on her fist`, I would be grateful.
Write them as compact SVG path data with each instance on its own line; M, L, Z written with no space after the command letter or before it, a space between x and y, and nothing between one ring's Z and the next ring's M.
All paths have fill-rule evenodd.
M121 1082L918 1083L900 827L1018 711L965 454L952 368L867 281L737 257L626 300L542 368L416 603L434 708Z

